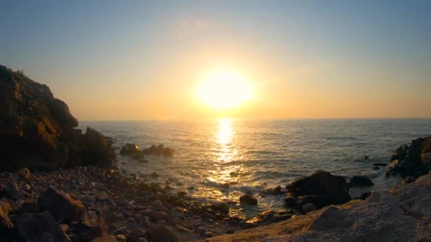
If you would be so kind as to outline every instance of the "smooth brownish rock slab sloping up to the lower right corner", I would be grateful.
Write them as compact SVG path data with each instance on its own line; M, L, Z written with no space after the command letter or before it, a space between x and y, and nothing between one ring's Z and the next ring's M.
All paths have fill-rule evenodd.
M431 175L276 224L206 241L430 241Z

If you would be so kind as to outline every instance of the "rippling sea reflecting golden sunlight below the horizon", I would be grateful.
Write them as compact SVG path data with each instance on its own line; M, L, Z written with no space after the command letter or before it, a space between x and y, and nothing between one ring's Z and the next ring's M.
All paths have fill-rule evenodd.
M150 155L140 163L119 156L118 166L142 176L156 172L154 182L169 179L174 191L185 191L202 202L237 202L250 192L257 206L231 204L230 213L251 219L260 212L286 209L282 195L262 190L282 187L310 175L329 171L347 180L366 175L374 186L352 188L352 197L366 191L384 191L401 178L385 178L387 167L374 170L373 163L390 163L393 151L412 139L431 134L430 119L330 119L330 120L237 120L200 121L84 121L122 147L135 143L145 149L163 144L174 149L171 157ZM147 178L150 179L150 178Z

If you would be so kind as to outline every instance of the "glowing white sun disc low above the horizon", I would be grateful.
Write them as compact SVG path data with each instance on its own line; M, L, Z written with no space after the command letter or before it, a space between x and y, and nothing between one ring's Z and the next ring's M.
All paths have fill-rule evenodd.
M218 110L236 108L252 98L252 86L236 71L213 71L197 91L204 103Z

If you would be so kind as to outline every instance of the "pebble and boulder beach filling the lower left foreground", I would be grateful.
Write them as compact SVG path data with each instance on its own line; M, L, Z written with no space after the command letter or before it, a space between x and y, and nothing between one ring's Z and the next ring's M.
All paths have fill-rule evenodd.
M0 173L0 241L196 241L250 226L225 202L152 180L95 167Z

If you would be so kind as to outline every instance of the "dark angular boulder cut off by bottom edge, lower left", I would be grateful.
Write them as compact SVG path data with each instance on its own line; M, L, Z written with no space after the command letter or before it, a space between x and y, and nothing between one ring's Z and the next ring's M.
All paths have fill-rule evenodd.
M21 214L16 229L26 241L71 241L49 212Z

